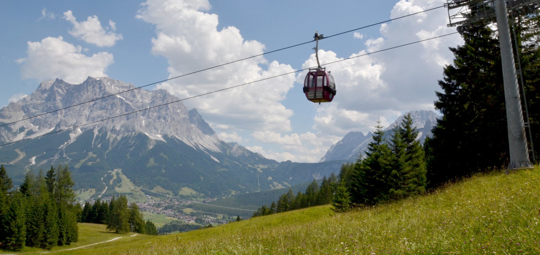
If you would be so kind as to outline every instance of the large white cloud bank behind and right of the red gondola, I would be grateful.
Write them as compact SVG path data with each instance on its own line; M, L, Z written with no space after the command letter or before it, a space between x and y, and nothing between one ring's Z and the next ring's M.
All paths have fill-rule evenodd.
M391 18L441 6L444 0L401 0L394 5ZM392 48L455 32L447 28L446 9L401 18L380 26L380 37L367 39L366 50L351 55ZM388 120L411 110L433 110L437 79L442 68L453 59L449 46L462 42L458 35L373 53L328 65L333 70L337 94L333 102L318 108L314 129L322 134L346 135L350 131L373 131L377 120ZM325 52L323 52L325 53ZM328 52L326 52L328 53ZM329 56L325 62L341 58ZM313 55L302 66L313 64Z

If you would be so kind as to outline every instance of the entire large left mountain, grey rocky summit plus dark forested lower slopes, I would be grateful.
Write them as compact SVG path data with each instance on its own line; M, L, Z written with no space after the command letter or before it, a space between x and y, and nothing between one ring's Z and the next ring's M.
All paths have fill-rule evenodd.
M188 188L204 197L278 189L339 172L340 160L279 163L226 143L196 109L163 105L178 100L165 90L135 89L108 77L42 82L0 109L0 125L52 112L1 126L0 143L19 142L0 147L0 164L16 184L29 170L68 164L76 189L102 190L102 177L119 169L147 189L177 194Z

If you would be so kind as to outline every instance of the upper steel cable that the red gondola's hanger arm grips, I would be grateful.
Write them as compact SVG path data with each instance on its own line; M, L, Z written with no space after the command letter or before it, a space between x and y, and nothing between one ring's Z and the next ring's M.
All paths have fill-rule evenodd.
M374 23L374 24L371 24L371 25L367 25L367 26L362 26L361 28L357 28L357 29L353 29L353 30L349 30L349 31L341 32L341 33L336 33L335 35L327 36L327 37L322 38L322 39L326 39L326 38L330 38L330 37L334 37L334 36L343 35L344 33L349 33L349 32L353 32L353 31L356 31L356 30L369 28L370 26L379 25L379 24L383 24L383 23L386 23L386 22L390 22L390 21L395 21L395 20L400 19L400 18L405 18L405 17L409 17L409 16L416 15L416 14L421 14L421 13L423 13L423 12L435 10L435 9L442 8L442 7L444 7L444 5L443 5L443 6L434 7L434 8L431 8L431 9L427 9L427 10L423 10L423 11L419 11L419 12L415 12L414 14L409 14L409 15L405 15L405 16L401 16L401 17L397 17L397 18L388 19L388 20L386 20L386 21L377 22L377 23ZM107 97L116 96L116 95L119 95L119 94L121 94L121 93L129 92L129 91L132 91L132 90L137 90L137 89L145 88L145 87L147 87L147 86L156 85L156 84L158 84L158 83L167 82L168 80L177 79L177 78L184 77L184 76L188 76L188 75L193 75L193 74L198 73L198 72L203 72L203 71L207 71L207 70L210 70L210 69L219 68L219 67L221 67L221 66L225 66L225 65L228 65L228 64L233 64L233 63L237 63L237 62L240 62L240 61L245 61L245 60L250 59L250 58L260 57L260 56L263 56L263 55L267 55L267 54L269 54L269 53L273 53L273 52L277 52L277 51L281 51L281 50L286 50L286 49L294 48L294 47L296 47L296 46L300 46L300 45L304 45L304 44L308 44L308 43L312 43L312 42L315 42L315 40L312 40L312 41L309 41L309 42L305 42L305 43L295 44L295 45L288 46L288 47L285 47L285 48L281 48L281 49L278 49L278 50L268 51L268 52L265 52L265 53L261 53L261 54L259 54L259 55L255 55L255 56L251 56L251 57L246 57L246 58L238 59L238 60L236 60L236 61L228 62L228 63L225 63L225 64L215 65L215 66L212 66L212 67L210 67L210 68L205 68L205 69L201 69L201 70L199 70L199 71L194 71L194 72L186 73L186 74L184 74L184 75L179 75L179 76L176 76L176 77L172 77L172 78L160 80L159 82L154 82L154 83L146 84L146 85L139 86L139 87L136 87L136 88L133 88L133 89L129 89L129 90L125 90L125 91L120 91L120 92L118 92L118 93L114 93L114 94L111 94L111 95L107 95L107 96L95 98L95 99L92 99L92 100L89 100L89 101L86 101L86 102L83 102L83 103L78 103L78 104L74 104L74 105L71 105L71 106L66 106L66 107L61 108L61 109L58 109L58 110L53 110L53 111L49 111L49 112L40 113L40 114L38 114L38 115L31 116L31 117L24 118L24 119L19 119L19 120L16 120L16 121L14 121L14 122L1 124L0 127L1 127L1 126L6 126L6 125L11 125L11 124L14 124L14 123L17 123L17 122L22 122L23 120L32 119L32 118L36 118L36 117L39 117L39 116L48 115L49 113L54 113L54 112L57 112L57 111L66 110L66 109L69 109L69 108L72 108L72 107L75 107L75 106L79 106L79 105L91 103L91 102L94 102L94 101L97 101L97 100L101 100L101 99L104 99L104 98L107 98Z

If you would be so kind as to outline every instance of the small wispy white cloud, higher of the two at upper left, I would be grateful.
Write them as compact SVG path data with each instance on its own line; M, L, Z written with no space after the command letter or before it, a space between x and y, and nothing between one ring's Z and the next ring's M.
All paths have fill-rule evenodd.
M64 12L64 18L73 24L73 29L69 31L70 35L87 43L110 47L123 39L122 34L113 32L116 30L116 23L109 21L109 27L104 29L96 15L88 17L86 21L77 22L73 12L68 10Z

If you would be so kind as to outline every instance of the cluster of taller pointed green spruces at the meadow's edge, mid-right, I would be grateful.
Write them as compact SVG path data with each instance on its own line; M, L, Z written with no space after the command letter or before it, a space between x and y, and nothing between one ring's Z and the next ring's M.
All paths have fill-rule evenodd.
M426 162L418 131L410 113L404 116L387 142L380 122L365 158L341 167L340 186L334 196L336 210L350 205L375 205L426 191Z

